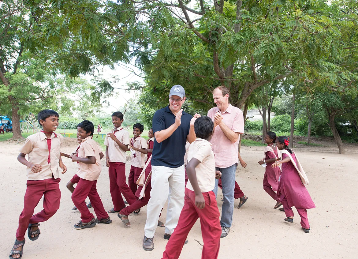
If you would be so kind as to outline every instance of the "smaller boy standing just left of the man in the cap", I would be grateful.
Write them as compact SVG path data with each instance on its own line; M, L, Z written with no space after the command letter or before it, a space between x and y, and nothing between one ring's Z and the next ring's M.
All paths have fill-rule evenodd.
M134 195L137 191L136 181L138 180L139 175L145 166L145 155L148 154L147 142L144 138L141 137L143 130L144 126L142 124L136 123L133 125L133 138L131 138L131 144L129 145L128 149L128 151L132 153L128 185ZM139 211L140 209L135 211L134 214L138 214Z

